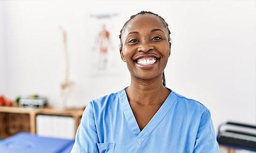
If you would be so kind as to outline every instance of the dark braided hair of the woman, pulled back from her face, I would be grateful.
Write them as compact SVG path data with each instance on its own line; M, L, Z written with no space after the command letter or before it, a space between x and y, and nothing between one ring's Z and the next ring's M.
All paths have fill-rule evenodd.
M123 47L123 44L122 44L122 34L123 34L123 32L124 32L124 30L125 30L125 28L126 28L127 23L128 23L129 21L131 21L134 17L136 17L136 16L138 16L138 15L141 15L141 14L152 14L152 15L158 17L158 18L163 22L165 28L168 30L168 41L172 44L172 39L170 38L170 30L169 30L169 28L168 28L168 23L167 23L160 15L158 15L158 14L155 14L155 13L150 12L150 11L141 11L141 12L135 14L135 15L132 15L132 16L130 17L130 19L127 20L127 21L124 23L123 28L121 29L120 34L119 34L120 49L122 49L122 47ZM166 84L165 84L164 71L163 71L163 74L162 74L162 83L163 83L163 86L166 86Z

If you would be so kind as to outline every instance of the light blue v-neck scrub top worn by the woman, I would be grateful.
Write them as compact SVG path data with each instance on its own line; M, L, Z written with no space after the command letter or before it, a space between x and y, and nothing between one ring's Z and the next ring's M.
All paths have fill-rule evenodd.
M170 92L142 131L125 90L90 101L71 152L219 152L210 111Z

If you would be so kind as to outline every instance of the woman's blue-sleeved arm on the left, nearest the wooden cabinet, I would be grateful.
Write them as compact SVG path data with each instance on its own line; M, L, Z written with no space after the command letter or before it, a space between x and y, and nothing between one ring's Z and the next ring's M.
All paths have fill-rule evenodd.
M98 152L97 141L98 136L94 120L93 105L92 102L90 102L83 112L81 123L77 129L75 143L71 152Z

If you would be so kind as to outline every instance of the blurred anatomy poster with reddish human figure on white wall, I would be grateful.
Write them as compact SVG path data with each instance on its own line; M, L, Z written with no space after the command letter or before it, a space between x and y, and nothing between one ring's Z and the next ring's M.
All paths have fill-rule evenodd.
M119 15L91 14L89 17L92 29L90 31L90 73L92 77L111 76L118 74L123 66L120 66L119 53L119 29L116 24ZM122 64L121 64L122 65Z

